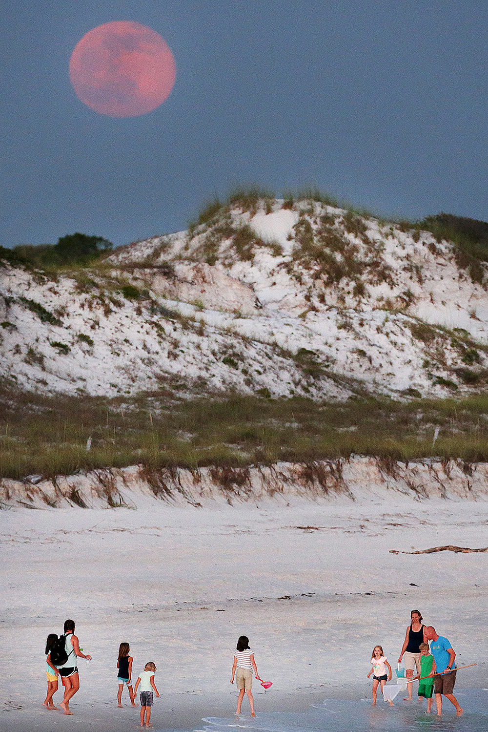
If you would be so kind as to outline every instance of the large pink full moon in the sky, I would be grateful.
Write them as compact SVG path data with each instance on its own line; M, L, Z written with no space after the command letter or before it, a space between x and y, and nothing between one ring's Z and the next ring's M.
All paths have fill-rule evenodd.
M165 40L140 23L116 20L86 33L70 59L77 97L100 114L137 117L168 99L176 67Z

